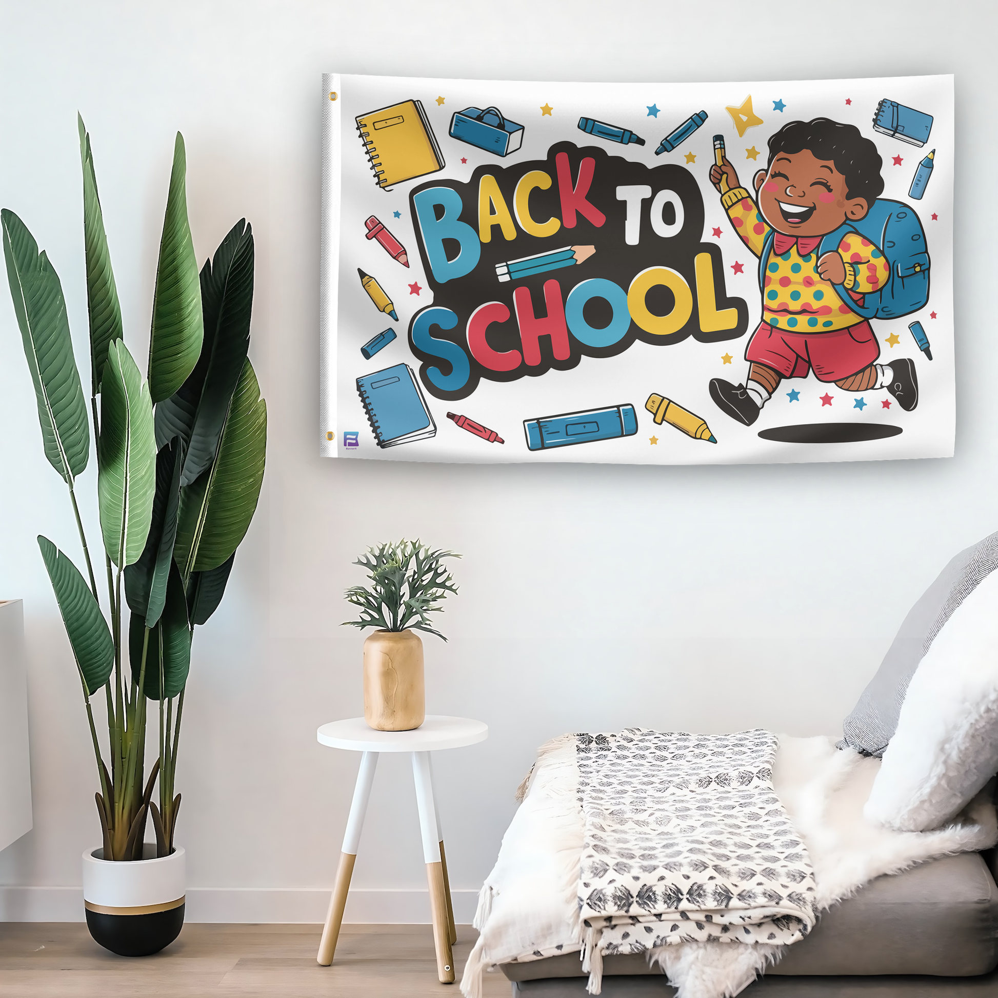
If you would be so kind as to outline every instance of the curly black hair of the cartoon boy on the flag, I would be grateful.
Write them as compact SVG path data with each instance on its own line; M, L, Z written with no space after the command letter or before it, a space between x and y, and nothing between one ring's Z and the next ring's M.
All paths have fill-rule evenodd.
M769 137L769 161L778 153L799 153L806 149L816 160L833 163L845 178L845 196L862 198L867 207L883 193L880 167L883 161L876 146L864 139L855 125L841 125L830 118L813 118L809 122L787 122Z

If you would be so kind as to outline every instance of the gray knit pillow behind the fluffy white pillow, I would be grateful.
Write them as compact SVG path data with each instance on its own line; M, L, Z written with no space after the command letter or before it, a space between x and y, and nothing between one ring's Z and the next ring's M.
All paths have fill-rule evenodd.
M882 755L897 730L908 684L935 636L956 608L998 568L998 532L961 551L904 618L876 675L842 722L839 749Z

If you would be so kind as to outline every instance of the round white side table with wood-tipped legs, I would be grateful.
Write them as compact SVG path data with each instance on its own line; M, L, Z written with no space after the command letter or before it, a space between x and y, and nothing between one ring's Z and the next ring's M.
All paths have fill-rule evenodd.
M454 957L451 946L457 942L454 929L454 907L450 899L447 859L443 850L440 815L433 798L433 769L430 752L438 749L461 749L484 742L488 726L467 718L445 718L427 715L419 728L411 732L376 732L367 727L363 718L333 721L316 732L320 745L332 749L360 751L360 771L353 787L350 816L346 819L343 850L339 855L336 881L329 898L329 911L322 927L322 939L316 959L327 967L336 951L336 940L343 922L343 909L350 889L353 863L357 858L360 828L374 782L377 757L383 751L407 751L412 755L412 778L416 784L419 807L419 830L423 839L423 859L430 888L430 910L433 917L433 943L436 947L437 976L441 983L454 982Z

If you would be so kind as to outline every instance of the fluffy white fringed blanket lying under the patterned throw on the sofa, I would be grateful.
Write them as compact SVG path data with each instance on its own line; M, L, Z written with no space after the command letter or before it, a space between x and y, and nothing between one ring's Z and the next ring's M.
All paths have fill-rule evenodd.
M879 765L879 759L835 749L833 739L779 739L773 785L806 846L819 909L881 874L998 840L994 806L983 792L953 824L936 831L896 832L870 824L862 807ZM481 998L481 975L498 964L582 954L586 930L578 888L585 822L578 780L571 737L541 749L479 896L480 935L461 981L466 998ZM679 989L678 998L731 998L784 948L684 941L650 950L649 959ZM591 980L595 993L599 984Z

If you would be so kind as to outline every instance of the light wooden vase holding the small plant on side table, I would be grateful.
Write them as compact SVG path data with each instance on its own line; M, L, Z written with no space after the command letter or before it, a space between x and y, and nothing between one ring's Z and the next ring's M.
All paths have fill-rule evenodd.
M364 720L408 732L426 718L423 643L412 631L375 631L364 642Z

